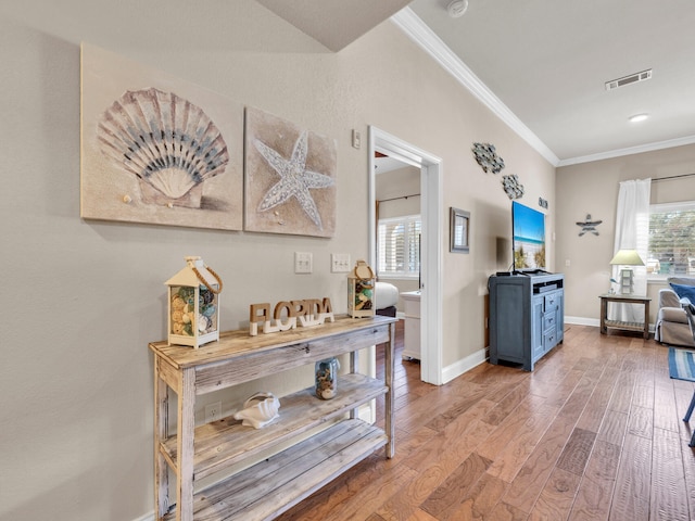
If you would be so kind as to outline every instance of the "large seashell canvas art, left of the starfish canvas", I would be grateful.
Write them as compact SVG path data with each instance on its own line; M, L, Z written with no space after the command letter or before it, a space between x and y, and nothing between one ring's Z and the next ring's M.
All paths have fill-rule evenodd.
M242 229L243 105L81 46L84 218Z

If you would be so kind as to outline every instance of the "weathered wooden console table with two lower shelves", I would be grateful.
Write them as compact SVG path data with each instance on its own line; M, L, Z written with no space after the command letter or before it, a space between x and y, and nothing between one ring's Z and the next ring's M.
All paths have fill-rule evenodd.
M320 327L277 334L228 331L200 350L151 343L155 519L273 519L376 449L386 446L386 456L393 457L395 321L337 317ZM359 374L357 352L384 342L384 379ZM345 353L351 355L350 373L338 377L332 399L315 396L312 378L307 389L280 397L280 417L263 429L243 427L232 417L194 425L201 394ZM383 429L357 417L357 407L379 396L386 396ZM305 439L298 442L298 436ZM199 490L199 480L240 466L248 468Z

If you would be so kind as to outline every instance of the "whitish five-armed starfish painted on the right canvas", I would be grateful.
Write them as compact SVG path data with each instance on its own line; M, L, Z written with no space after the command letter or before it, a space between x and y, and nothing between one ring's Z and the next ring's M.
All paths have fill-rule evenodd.
M324 174L306 169L307 136L307 131L302 132L294 143L292 157L289 160L282 157L261 140L256 139L254 141L253 144L256 150L280 176L280 180L267 191L263 201L261 201L258 212L266 212L278 204L287 202L290 198L295 198L309 219L323 230L321 216L308 190L311 188L331 187L333 179Z

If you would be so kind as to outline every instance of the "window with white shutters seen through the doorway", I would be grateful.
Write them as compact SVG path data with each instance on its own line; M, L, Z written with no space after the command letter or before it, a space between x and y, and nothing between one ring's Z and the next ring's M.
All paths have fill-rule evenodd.
M419 215L379 219L377 274L386 278L416 278L420 272Z

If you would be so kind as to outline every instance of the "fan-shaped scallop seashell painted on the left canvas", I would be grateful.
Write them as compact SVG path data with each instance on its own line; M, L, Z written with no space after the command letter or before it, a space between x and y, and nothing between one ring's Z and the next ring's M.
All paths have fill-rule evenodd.
M202 109L155 88L114 101L97 139L104 155L139 178L146 203L198 208L203 182L229 163L227 144Z

